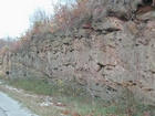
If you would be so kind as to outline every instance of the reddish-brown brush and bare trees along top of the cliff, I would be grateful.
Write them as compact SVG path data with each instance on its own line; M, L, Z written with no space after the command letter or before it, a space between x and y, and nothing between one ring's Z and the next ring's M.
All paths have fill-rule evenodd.
M143 6L154 6L155 0L61 0L54 4L53 13L48 14L42 9L37 9L30 17L31 27L13 41L10 49L2 48L2 55L11 50L18 52L29 46L33 38L40 40L44 34L64 32L66 30L79 29L84 24L92 29L92 22L101 21L105 17L117 17L120 20L128 21L134 19L138 8Z

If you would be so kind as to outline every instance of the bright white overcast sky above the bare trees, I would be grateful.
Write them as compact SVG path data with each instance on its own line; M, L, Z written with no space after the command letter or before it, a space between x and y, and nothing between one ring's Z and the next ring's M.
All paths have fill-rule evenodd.
M58 0L52 0L58 2ZM38 7L52 12L51 0L1 0L0 39L18 38L29 29L29 18Z

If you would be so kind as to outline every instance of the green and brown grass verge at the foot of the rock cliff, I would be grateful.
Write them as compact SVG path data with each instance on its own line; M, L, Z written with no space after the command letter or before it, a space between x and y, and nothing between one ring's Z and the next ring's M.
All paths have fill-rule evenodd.
M31 101L28 97L23 98L24 96L20 98L20 101L24 99L25 103L23 104L39 116L61 116L60 114L64 116L155 116L155 107L143 105L132 96L128 96L127 101L122 101L120 104L92 99L89 93L75 81L64 82L58 80L49 84L46 80L16 78L6 80L6 83L25 89L31 94L52 96L51 102L59 108L53 106L40 107L41 97L31 98ZM19 94L14 96L17 97Z

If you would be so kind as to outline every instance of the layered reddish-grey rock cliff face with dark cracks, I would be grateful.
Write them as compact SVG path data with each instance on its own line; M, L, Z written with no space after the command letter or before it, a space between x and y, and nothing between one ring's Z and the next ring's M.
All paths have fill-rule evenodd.
M110 102L123 98L128 88L155 105L153 1L107 1L100 4L107 6L101 17L93 12L92 23L32 36L29 46L2 57L3 71L9 77L75 77L93 97Z

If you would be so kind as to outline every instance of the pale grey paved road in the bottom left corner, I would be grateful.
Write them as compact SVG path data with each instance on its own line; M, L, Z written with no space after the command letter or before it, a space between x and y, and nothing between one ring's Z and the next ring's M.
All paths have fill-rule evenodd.
M0 116L37 116L30 110L22 108L20 104L0 92Z

